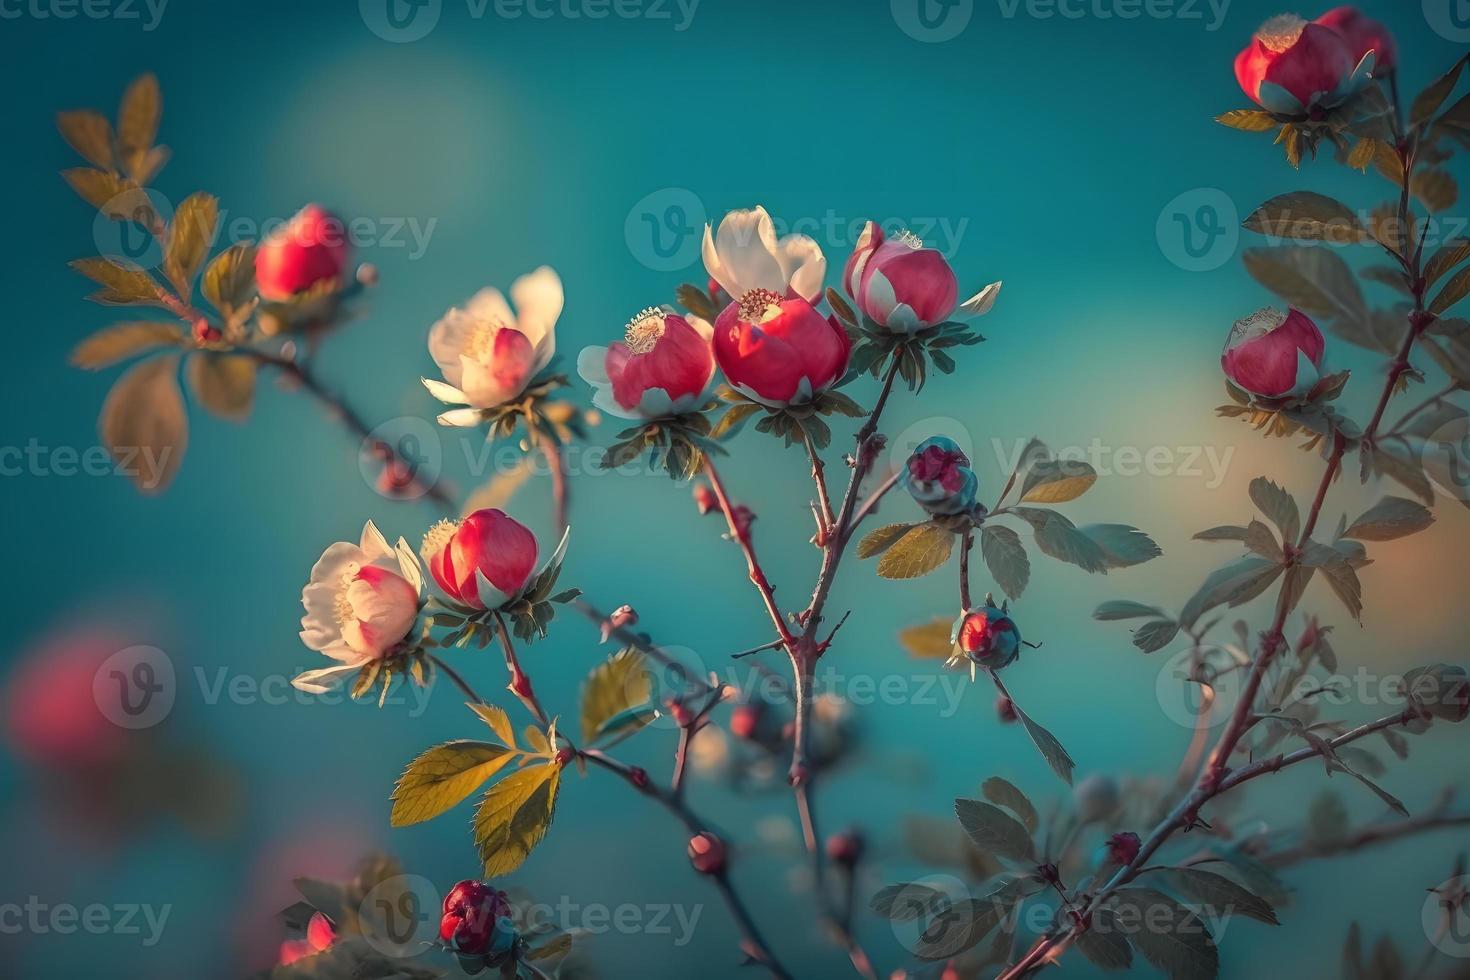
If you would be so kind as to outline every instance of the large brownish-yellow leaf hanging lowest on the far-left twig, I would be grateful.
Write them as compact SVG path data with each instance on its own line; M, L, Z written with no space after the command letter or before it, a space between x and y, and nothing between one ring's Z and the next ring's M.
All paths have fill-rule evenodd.
M122 473L146 494L168 488L188 447L176 354L131 367L107 392L98 430Z

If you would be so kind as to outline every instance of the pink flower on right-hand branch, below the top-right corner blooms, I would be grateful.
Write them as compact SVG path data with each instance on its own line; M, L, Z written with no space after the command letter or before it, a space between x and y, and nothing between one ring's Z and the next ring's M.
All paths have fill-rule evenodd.
M1236 320L1220 354L1225 376L1263 398L1299 398L1320 379L1326 341L1301 310L1270 307Z

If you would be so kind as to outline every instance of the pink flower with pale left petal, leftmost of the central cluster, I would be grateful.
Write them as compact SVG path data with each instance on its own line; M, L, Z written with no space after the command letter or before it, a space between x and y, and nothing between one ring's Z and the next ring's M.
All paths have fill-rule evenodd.
M625 339L588 347L576 372L592 385L592 404L619 419L666 419L700 407L714 379L709 323L647 309Z

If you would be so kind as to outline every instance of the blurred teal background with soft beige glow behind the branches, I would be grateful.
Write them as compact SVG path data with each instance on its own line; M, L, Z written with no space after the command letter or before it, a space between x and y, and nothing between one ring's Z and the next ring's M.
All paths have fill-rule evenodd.
M978 325L988 342L964 350L960 370L932 378L922 398L895 397L885 429L910 444L958 438L985 500L1032 435L1100 469L1066 513L1138 525L1164 557L1102 577L1033 554L1014 613L1045 645L1007 680L1069 746L1079 776L1173 773L1189 730L1172 704L1183 695L1170 651L1141 655L1123 624L1095 623L1091 611L1108 598L1177 608L1227 557L1191 535L1244 523L1252 478L1270 475L1298 497L1316 485L1320 463L1295 439L1266 441L1214 416L1225 335L1272 301L1241 266L1252 242L1236 228L1288 190L1361 209L1388 197L1376 173L1327 157L1297 173L1269 137L1213 120L1247 104L1232 59L1279 13L1274 3L960 0L929 19L913 0L400 7L412 16L390 19L381 0L0 4L0 122L12 147L0 187L12 229L0 264L10 323L0 444L21 460L0 480L10 567L0 905L109 909L97 929L71 930L16 930L12 914L0 921L0 974L75 977L106 965L119 977L243 976L273 962L284 934L272 915L295 901L294 876L343 877L372 849L441 890L478 873L469 804L388 827L403 765L432 743L478 736L459 692L407 691L379 710L288 686L322 666L297 638L300 589L320 551L356 541L368 519L416 544L438 517L431 502L382 497L354 441L313 401L272 383L247 425L191 411L187 458L162 497L140 495L109 467L66 464L68 453L96 453L97 410L116 375L71 369L68 351L119 317L85 303L90 285L66 267L116 232L96 229L93 209L57 176L75 157L54 113L110 113L146 71L162 82L160 141L173 150L156 181L165 198L219 195L223 238L254 238L307 201L356 222L356 254L382 281L362 319L326 341L318 369L369 420L398 420L392 432L417 432L413 420L438 411L419 378L432 372L426 331L448 306L554 266L570 369L576 351L617 336L638 309L672 301L681 282L703 284L700 232L731 209L760 203L782 231L813 235L833 285L867 219L945 251L961 289L1004 279ZM1470 41L1451 0L1361 7L1396 32L1410 93ZM1342 342L1327 357L1354 369L1344 406L1366 419L1379 369ZM872 404L872 388L848 391ZM573 397L588 403L581 383ZM614 430L604 423L592 442L607 445ZM833 445L850 433L839 429ZM487 458L472 430L429 428L423 448L460 498L514 457ZM657 641L744 679L728 654L764 642L769 624L716 519L697 514L686 485L603 473L589 458L570 458L562 582L603 608L632 602ZM806 470L797 451L754 432L723 466L757 511L767 570L792 601L817 567ZM1385 491L1396 492L1347 480L1326 519ZM510 511L550 551L545 476ZM913 516L900 500L883 514ZM1432 532L1374 547L1361 627L1326 591L1308 592L1302 608L1338 623L1344 674L1466 658L1470 514L1442 498L1436 516ZM838 580L833 608L856 613L823 661L823 683L851 702L858 736L823 780L819 810L828 830L863 827L860 890L932 871L906 848L906 818L948 820L953 799L988 776L1038 802L1067 795L1023 732L997 720L988 685L958 683L958 673L936 685L939 666L898 645L901 627L950 614L953 588L953 573L895 583L857 561ZM1247 613L1257 624L1269 617L1264 601ZM104 661L135 645L163 651L168 704L122 727L90 692ZM542 699L570 717L581 679L610 649L567 613L525 663ZM457 663L481 691L498 692L491 654ZM897 693L873 692L885 679ZM1342 708L1354 720L1377 714ZM1419 739L1383 785L1410 810L1430 807L1470 776L1460 738L1436 729ZM619 755L666 774L673 743L672 730L654 729ZM717 770L720 745L711 739L692 802L741 845L735 880L788 965L842 976L844 956L813 926L810 882L795 871L804 860L789 792L732 788ZM1326 785L1320 768L1301 767L1261 785L1247 814L1295 826ZM1382 814L1361 788L1333 786L1354 820ZM1223 974L1332 976L1352 920L1417 955L1424 889L1448 876L1460 843L1463 835L1429 835L1292 868L1283 926L1232 923ZM679 826L604 773L564 782L551 833L512 883L553 905L672 902L698 915L688 934L670 918L669 933L589 937L600 976L739 973L735 932L713 887L689 871ZM123 908L135 909L134 932L119 923ZM911 965L885 920L860 911L856 927L881 971ZM1066 970L1089 968L1070 958Z

